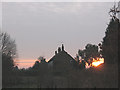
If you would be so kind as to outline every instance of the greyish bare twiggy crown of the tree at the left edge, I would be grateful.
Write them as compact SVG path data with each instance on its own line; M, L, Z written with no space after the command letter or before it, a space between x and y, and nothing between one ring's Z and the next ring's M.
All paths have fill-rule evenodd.
M15 40L11 39L7 33L0 32L0 41L2 54L15 58L17 56Z

